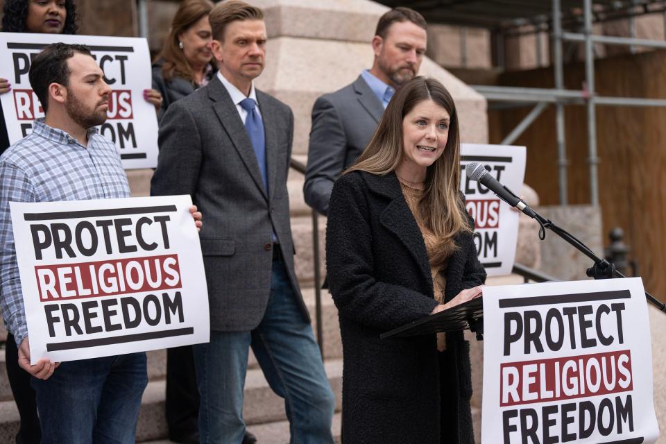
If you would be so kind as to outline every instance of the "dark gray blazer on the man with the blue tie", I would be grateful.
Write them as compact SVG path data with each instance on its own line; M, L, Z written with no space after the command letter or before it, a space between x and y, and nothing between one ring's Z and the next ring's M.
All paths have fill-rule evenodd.
M268 195L236 106L218 78L169 106L160 126L160 155L151 194L190 194L203 213L201 253L211 329L253 330L271 291L272 233L302 316L309 321L293 269L287 173L291 109L257 90L266 134Z

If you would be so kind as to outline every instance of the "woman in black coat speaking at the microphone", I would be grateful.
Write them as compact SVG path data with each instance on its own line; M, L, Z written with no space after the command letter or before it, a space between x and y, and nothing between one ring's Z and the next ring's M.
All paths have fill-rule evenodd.
M474 443L462 332L379 334L481 294L449 92L416 77L337 180L326 252L343 343L343 442Z

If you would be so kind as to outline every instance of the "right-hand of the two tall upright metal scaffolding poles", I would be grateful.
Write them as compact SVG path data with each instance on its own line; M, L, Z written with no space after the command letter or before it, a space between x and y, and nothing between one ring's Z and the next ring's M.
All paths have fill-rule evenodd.
M592 0L585 0L585 77L588 85L588 163L590 164L590 203L599 205L599 179L597 178L597 110L595 105L595 55L592 40Z

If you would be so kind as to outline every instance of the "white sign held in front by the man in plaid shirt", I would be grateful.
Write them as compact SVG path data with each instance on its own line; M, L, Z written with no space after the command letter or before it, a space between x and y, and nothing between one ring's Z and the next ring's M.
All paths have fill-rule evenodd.
M10 202L31 363L207 342L189 196Z

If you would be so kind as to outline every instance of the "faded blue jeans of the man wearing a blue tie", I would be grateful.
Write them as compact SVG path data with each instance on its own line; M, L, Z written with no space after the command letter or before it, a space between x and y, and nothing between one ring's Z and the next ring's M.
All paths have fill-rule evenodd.
M194 345L200 442L241 444L250 346L268 384L284 398L291 443L332 444L335 397L312 327L300 312L281 259L273 260L271 296L255 330L212 331L210 343Z

